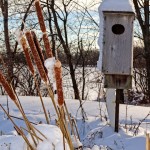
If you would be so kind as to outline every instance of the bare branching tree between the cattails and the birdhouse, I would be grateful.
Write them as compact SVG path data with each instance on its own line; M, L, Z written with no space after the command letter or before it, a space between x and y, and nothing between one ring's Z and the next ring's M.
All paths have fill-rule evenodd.
M75 95L74 97L75 99L79 99L80 96L82 96L82 99L84 99L84 67L86 66L86 55L89 54L84 51L89 51L89 48L92 49L93 41L96 41L96 32L93 33L92 31L98 31L98 25L96 21L92 18L92 15L89 13L88 8L86 6L83 7L79 5L78 3L76 3L75 0L62 0L59 1L59 5L57 1L47 0L46 3L43 2L43 5L44 4L46 4L46 7L48 9L49 16L47 18L50 19L48 20L50 35L53 38L54 36L56 36L58 39L58 43L60 43L57 43L58 47L56 48L56 41L54 43L54 40L51 38L52 49L55 49L54 51L56 51L57 49L62 49L64 51L67 64L69 66L70 77L72 79L72 86ZM91 33L93 33L93 37ZM84 44L82 44L82 46L81 44L79 44L81 39L83 39L84 41ZM79 65L79 61L82 62L80 63L80 65L82 64L83 69L83 88L81 90L81 93L79 92L76 74L76 69Z

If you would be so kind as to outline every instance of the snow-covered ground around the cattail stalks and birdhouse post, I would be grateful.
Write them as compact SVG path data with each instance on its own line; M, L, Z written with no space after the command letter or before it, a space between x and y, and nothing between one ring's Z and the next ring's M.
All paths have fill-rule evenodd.
M41 129L48 139L51 138L50 135L55 135L55 133L52 133L51 128L46 125L39 98L26 96L19 99L28 119L36 123L37 125L35 126L39 130ZM7 109L6 96L0 96L0 103ZM51 99L44 98L44 103L47 111L50 112L51 125L54 125L56 116ZM120 129L119 133L115 133L114 129L109 125L105 103L84 101L83 107L87 116L86 121L82 120L78 100L68 99L66 103L69 112L76 119L84 149L145 150L145 132L150 132L150 116L146 117L150 113L149 107L120 105ZM10 99L8 100L8 106L9 114L13 116L15 123L19 127L25 127L22 120L14 118L22 118L22 116ZM140 124L144 118L145 120ZM42 122L42 124L39 124L39 122ZM140 126L138 127L139 124ZM57 129L57 135L61 136L58 133ZM2 109L0 109L0 134L0 150L25 150L24 140L17 135L13 124L7 119ZM55 139L59 138L59 136L55 137ZM39 144L38 150L51 150L50 147L50 143L44 140L43 143ZM63 150L63 146L58 149Z

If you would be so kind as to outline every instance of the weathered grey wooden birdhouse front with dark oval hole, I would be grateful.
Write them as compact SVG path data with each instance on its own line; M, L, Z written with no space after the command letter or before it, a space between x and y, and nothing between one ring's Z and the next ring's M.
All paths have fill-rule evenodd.
M131 75L133 62L133 20L131 12L103 12L104 74Z

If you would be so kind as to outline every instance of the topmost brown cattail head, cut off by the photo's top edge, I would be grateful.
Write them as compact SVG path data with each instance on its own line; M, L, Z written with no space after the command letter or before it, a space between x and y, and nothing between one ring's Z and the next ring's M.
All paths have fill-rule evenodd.
M43 13L42 13L42 9L41 9L39 0L35 0L35 8L36 8L36 13L37 13L37 17L39 20L40 28L41 28L42 32L44 33L44 32L46 32L46 27L45 27L44 17L43 17Z

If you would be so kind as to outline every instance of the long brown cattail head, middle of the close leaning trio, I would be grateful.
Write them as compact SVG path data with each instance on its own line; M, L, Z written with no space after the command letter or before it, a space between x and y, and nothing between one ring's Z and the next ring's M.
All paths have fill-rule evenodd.
M43 64L41 62L40 56L39 56L39 54L37 52L36 46L34 44L34 40L33 40L32 34L31 34L30 31L27 31L25 33L25 35L26 35L27 41L29 43L29 46L31 48L32 55L33 55L33 58L35 60L36 65L37 65L37 68L38 68L38 71L40 73L40 76L41 76L41 78L43 79L44 82L47 82L47 75L45 73L45 70L44 70Z

